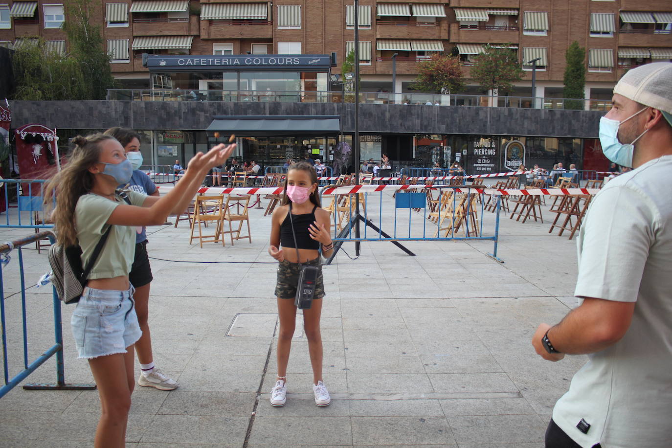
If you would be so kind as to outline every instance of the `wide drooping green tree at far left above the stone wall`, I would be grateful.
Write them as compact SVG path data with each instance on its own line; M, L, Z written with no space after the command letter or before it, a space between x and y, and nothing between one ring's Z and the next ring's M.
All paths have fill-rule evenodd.
M28 40L12 57L15 99L59 101L83 99L85 80L77 60L50 50L44 40Z

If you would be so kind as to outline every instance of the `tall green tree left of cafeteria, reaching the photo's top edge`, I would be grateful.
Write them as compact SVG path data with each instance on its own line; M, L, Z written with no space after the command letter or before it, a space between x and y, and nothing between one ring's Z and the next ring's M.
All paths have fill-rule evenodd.
M93 0L71 0L65 3L63 30L68 39L70 55L79 62L85 79L84 95L78 99L105 99L108 89L116 86L110 68L100 27L93 25L101 14ZM73 98L74 99L74 98Z

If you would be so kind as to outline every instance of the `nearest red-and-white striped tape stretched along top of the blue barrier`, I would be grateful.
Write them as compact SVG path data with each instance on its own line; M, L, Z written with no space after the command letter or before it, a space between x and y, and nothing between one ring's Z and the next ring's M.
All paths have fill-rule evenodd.
M523 196L562 196L562 195L595 195L599 188L539 188L539 189L494 189L475 187L439 187L427 185L345 185L341 187L326 187L323 195L342 195L353 193L374 193L376 191L420 190L420 189L452 189L456 193L484 193L487 195L523 195ZM163 185L159 189L162 195L173 189L172 185ZM200 195L253 195L253 194L282 194L284 187L202 187L198 189Z

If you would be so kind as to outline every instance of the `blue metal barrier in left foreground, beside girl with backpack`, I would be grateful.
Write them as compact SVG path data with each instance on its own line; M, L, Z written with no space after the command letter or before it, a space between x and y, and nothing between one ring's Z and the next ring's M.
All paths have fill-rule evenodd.
M60 300L56 296L56 289L52 287L52 304L53 304L53 314L54 314L54 345L48 347L38 356L34 361L29 363L28 359L28 325L26 320L26 289L32 287L26 287L26 278L24 272L24 258L22 254L22 247L27 244L32 244L38 240L49 238L51 242L55 242L54 234L52 232L40 232L34 235L27 236L19 240L15 240L10 244L0 244L0 323L2 324L2 354L3 354L3 376L5 380L5 386L0 388L0 398L5 396L7 392L12 390L17 384L22 382L28 375L33 373L40 365L44 364L47 359L56 355L56 384L26 384L24 389L31 390L91 390L95 389L94 384L66 384L65 382L65 363L63 360L63 334L62 334L62 319L60 313ZM7 263L11 261L7 260L7 257L12 250L18 251L17 263L19 264L19 280L21 283L21 310L22 310L22 337L23 337L23 369L16 373L13 377L9 377L10 373L10 362L8 358L7 350L7 322L6 322L6 306L5 300L8 300L11 296L5 298L5 279L3 272L5 271ZM16 263L16 262L15 262ZM31 281L36 281L37 279L31 279ZM12 295L13 296L13 295Z

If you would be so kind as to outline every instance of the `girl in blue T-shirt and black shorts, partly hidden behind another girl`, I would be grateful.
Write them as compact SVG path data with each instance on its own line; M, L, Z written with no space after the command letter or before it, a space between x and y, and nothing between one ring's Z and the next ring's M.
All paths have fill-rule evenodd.
M106 135L116 138L126 151L126 159L133 166L133 174L127 184L120 185L120 188L128 188L145 195L158 196L159 189L149 178L148 175L140 171L142 165L142 152L140 152L140 134L126 128L110 128L106 130ZM157 388L159 390L173 390L177 388L177 382L168 377L154 365L152 353L152 339L149 331L149 289L153 280L152 268L149 263L147 253L147 235L146 228L140 226L136 228L135 236L135 256L133 264L128 274L130 283L135 288L133 298L135 300L135 310L138 314L138 324L142 330L142 336L135 343L135 351L138 354L138 363L140 363L140 375L138 384L144 387Z

